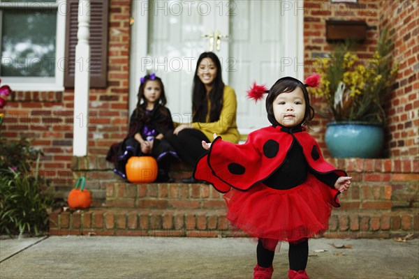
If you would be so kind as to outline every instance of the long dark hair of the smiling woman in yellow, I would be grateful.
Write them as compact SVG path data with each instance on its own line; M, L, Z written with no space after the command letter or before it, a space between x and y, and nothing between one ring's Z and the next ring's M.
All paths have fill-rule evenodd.
M223 91L224 82L221 77L221 63L220 59L213 52L204 52L200 54L198 62L196 63L195 75L193 77L192 89L192 121L193 122L207 122L207 90L205 85L198 77L199 64L203 59L209 58L216 66L216 77L209 94L210 107L210 122L218 121L220 119L221 108L223 107Z

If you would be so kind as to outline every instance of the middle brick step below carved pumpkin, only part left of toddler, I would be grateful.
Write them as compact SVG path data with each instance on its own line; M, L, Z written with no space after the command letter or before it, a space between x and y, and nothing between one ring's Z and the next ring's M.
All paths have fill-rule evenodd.
M223 196L205 183L105 183L107 207L226 209Z

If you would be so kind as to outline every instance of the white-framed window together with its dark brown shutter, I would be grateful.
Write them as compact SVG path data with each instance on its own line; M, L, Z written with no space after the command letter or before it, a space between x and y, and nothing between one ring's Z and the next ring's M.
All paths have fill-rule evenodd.
M105 88L108 1L90 1L90 86ZM14 91L74 86L78 0L0 0L0 77ZM80 66L80 65L79 65Z

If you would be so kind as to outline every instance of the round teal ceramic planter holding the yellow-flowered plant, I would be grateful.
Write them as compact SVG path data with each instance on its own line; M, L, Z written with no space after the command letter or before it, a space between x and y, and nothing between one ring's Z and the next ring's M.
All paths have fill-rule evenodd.
M332 122L326 128L325 142L336 158L378 158L383 150L383 126L354 121Z

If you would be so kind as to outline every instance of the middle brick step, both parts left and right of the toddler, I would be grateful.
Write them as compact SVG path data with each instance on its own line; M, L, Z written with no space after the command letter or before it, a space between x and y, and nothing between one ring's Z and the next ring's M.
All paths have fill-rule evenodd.
M225 208L223 196L205 183L147 183L105 182L105 206L127 208ZM353 183L348 193L340 197L341 209L390 210L392 187L385 184Z

